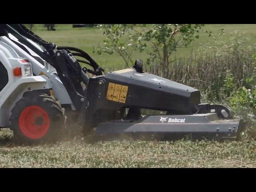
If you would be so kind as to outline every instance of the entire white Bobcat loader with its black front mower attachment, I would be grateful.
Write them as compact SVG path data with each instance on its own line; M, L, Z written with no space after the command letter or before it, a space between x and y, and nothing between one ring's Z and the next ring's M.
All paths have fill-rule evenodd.
M0 127L20 142L77 128L106 137L238 139L244 128L225 106L202 104L199 90L144 72L142 60L103 74L83 50L46 42L22 24L0 24L0 68Z

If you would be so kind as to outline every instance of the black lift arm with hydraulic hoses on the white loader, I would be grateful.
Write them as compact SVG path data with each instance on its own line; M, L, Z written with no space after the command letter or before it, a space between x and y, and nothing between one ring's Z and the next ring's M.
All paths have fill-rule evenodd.
M2 25L1 28L2 30L5 30L7 37L8 33L11 33L19 42L28 46L28 48L56 69L58 77L66 88L74 107L76 110L80 110L82 108L81 101L83 102L85 100L85 90L80 83L83 82L85 85L88 83L89 77L86 75L86 72L94 75L102 75L104 69L100 68L100 66L83 50L74 47L56 47L54 43L46 42L22 24L5 24ZM42 46L44 51L42 52L36 48L26 38ZM20 44L19 46L22 47ZM71 53L70 50L74 51L74 53ZM80 56L88 60L88 62L84 60L79 61L90 65L94 70L85 67L82 69L73 54L74 56Z

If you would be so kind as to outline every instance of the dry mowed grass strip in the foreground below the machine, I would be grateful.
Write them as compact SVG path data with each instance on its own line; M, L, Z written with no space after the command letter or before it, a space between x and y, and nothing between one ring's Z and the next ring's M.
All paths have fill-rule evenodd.
M88 143L81 137L41 146L17 146L0 131L1 168L253 168L256 142Z

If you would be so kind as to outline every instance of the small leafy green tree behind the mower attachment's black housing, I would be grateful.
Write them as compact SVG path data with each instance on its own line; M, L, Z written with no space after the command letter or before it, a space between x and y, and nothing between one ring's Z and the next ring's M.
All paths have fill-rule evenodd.
M126 66L131 66L134 64L131 58L134 50L146 50L147 64L157 63L164 69L172 62L170 58L178 48L188 47L195 38L199 38L202 26L204 24L100 24L106 39L104 46L94 48L94 53L117 52Z

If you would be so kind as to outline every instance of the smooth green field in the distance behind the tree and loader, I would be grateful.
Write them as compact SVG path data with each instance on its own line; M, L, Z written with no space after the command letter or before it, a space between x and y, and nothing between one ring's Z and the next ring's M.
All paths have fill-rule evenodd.
M45 40L49 42L52 41L58 46L73 46L86 51L100 66L106 69L106 71L119 70L125 67L122 58L118 54L102 54L102 56L99 56L92 53L93 46L102 45L104 38L106 38L102 35L103 31L97 27L72 28L71 24L58 24L56 31L47 31L42 26L42 24L37 24L33 31ZM234 30L245 32L248 36L256 36L256 24L208 24L204 27L205 30L212 31L215 35L221 28L225 30L224 36L229 36L230 32ZM208 38L207 34L200 33L200 38L196 39L192 45L205 44L210 39L212 38ZM252 38L252 43L255 42L256 38ZM196 49L197 47L194 47L194 50ZM187 56L191 50L192 48L180 48L177 51L177 55L180 57ZM146 57L146 52L134 52L132 59L135 61L141 58L145 61Z

